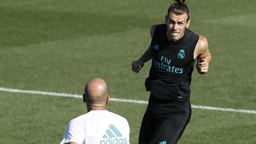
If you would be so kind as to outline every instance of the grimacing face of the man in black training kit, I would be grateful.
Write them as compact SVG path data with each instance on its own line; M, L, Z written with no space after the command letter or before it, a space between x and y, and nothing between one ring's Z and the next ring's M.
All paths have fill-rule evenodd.
M185 28L190 24L190 20L187 22L187 14L176 15L170 13L169 16L165 16L165 23L167 24L167 37L169 41L176 41L183 37Z

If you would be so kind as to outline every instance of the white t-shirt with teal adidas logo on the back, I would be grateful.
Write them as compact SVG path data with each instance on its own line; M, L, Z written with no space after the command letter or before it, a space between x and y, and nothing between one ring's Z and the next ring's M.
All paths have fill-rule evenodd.
M130 144L127 120L107 110L92 110L71 120L60 144Z

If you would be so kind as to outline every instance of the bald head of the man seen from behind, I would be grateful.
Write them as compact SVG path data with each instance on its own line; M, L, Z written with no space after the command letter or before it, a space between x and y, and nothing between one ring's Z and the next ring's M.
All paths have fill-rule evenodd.
M105 104L108 97L108 85L101 78L91 79L84 88L86 101L91 104Z

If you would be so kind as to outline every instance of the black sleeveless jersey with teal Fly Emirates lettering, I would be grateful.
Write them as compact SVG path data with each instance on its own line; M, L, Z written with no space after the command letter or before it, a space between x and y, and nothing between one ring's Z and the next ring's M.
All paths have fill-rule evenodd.
M155 28L151 41L152 65L145 81L146 90L160 99L189 102L189 87L195 65L194 50L199 35L185 29L182 38L170 42L166 32L166 24Z

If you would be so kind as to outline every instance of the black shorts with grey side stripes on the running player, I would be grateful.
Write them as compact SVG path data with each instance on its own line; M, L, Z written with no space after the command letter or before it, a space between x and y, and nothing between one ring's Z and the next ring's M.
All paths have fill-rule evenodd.
M139 144L176 144L190 117L190 102L161 100L151 95L141 123Z

